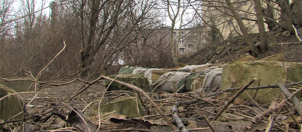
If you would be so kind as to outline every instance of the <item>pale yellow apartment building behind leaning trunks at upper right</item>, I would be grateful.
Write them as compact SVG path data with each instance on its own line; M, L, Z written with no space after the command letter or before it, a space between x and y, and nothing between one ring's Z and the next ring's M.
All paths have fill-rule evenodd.
M224 0L202 1L203 26L207 31L213 30L209 25L216 27L224 39L242 35L236 20L224 2ZM247 31L249 33L258 33L254 2L252 0L231 0L231 2L239 17L241 17ZM276 6L276 4L273 6ZM262 7L266 7L266 3L262 2ZM274 15L277 16L278 14ZM265 28L268 31L267 24L265 24Z

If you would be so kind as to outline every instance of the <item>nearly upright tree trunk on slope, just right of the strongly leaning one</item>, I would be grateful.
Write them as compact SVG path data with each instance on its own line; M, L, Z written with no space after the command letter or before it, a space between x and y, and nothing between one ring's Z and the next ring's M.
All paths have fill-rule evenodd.
M259 29L259 33L260 33L261 50L267 51L268 44L267 44L267 38L265 35L261 3L260 3L260 0L254 0L254 2L255 2L255 7L256 7L256 17L257 17L258 29Z

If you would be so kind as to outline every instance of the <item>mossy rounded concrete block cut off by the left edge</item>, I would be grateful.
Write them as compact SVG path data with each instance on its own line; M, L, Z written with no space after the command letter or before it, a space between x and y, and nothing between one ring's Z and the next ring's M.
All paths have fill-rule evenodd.
M14 90L0 84L0 98L16 93ZM17 95L12 95L4 98L0 101L0 119L3 121L8 121L9 118L22 112L22 106L24 103ZM14 119L22 118L22 114L14 117ZM10 119L11 120L11 119ZM0 130L2 130L2 125L0 125Z

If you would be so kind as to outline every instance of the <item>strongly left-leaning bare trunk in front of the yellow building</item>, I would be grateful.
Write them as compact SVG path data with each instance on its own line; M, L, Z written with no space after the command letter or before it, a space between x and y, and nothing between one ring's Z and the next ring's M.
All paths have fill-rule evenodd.
M231 13L233 14L233 16L235 17L238 25L239 25L239 28L243 34L243 38L246 42L247 45L249 45L249 48L251 49L252 51L252 56L253 57L257 57L258 54L259 54L259 50L257 49L257 47L253 44L252 42L252 38L250 37L249 33L247 32L241 18L239 17L238 13L235 11L233 5L231 4L231 1L230 0L225 0L226 1L226 4L228 6L228 8L230 9Z

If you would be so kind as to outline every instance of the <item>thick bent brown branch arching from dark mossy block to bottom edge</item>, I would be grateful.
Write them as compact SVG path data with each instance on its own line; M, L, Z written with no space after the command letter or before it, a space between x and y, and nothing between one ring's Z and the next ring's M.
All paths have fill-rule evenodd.
M107 80L110 80L110 81L115 81L115 82L117 82L121 85L129 87L133 90L136 90L139 94L142 94L155 107L155 109L165 118L165 121L167 121L167 123L171 127L171 129L176 130L174 125L170 122L169 118L165 115L165 113L162 112L162 110L153 102L153 100L151 100L150 97L143 90L141 90L139 87L134 86L132 84L125 83L123 81L114 80L112 78L109 78L109 77L106 77L106 76L103 76L103 75L101 76L101 78L104 78L104 79L107 79Z

